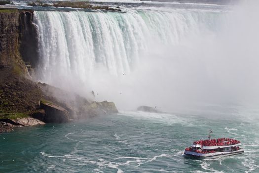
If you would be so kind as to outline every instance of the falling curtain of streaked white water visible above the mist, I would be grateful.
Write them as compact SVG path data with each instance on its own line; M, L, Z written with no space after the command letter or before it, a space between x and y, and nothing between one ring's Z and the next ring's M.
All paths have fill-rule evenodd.
M203 13L36 11L39 77L50 84L59 75L85 82L98 65L112 75L129 73L150 51L148 44L176 45L212 27L217 15Z

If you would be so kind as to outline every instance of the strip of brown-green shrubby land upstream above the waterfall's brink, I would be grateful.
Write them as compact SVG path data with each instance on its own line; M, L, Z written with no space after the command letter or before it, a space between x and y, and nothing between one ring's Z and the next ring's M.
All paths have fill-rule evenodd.
M119 8L111 8L107 5L100 6L100 5L92 5L88 1L59 1L53 4L50 3L43 3L40 0L35 2L29 2L27 5L30 6L53 6L53 7L71 7L71 8L82 8L82 9L104 9L104 10L111 10L111 11L121 11Z

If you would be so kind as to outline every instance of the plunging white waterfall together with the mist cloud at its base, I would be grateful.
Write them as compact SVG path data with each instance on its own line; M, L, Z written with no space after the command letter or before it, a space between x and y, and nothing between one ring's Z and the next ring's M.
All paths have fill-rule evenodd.
M94 90L120 109L255 102L258 23L247 10L37 11L37 78L82 95ZM244 23L253 24L246 37Z

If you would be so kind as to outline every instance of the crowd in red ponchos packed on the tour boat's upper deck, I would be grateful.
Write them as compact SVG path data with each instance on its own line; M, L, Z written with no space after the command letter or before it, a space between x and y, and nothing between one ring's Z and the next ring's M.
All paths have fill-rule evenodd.
M238 143L240 143L239 140L231 138L206 139L193 142L193 144L200 144L201 146L235 145Z

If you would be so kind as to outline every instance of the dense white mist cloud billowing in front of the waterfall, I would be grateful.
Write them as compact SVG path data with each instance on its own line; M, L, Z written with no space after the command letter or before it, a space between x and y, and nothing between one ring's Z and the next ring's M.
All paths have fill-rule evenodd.
M81 64L77 64L76 73L71 72L75 69L72 63L66 67L70 68L69 72L57 67L47 78L38 73L39 80L86 97L93 90L95 100L114 101L121 111L136 110L141 105L181 113L255 107L259 103L258 7L256 0L243 1L229 11L191 13L189 17L197 20L193 23L181 23L184 20L175 20L175 25L159 23L157 26L161 28L156 28L156 33L162 30L161 33L167 34L152 35L144 30L139 34L142 37L135 37L142 40L136 40L139 47L126 50L134 55L130 60L129 57L122 60L128 61L126 68L116 61L123 54L115 52L108 55L113 59L106 59L105 63L95 56L95 63L87 61L88 69L83 66L82 71L78 69ZM181 13L185 11L177 11L177 17L185 15ZM186 13L190 12L186 10ZM201 15L207 16L202 18ZM205 26L205 23L208 24ZM164 39L167 37L172 37L171 42ZM111 41L118 42L119 39L123 38ZM94 47L86 46L81 48ZM80 55L77 52L74 56ZM93 59L86 55L82 57ZM112 69L114 66L107 65L108 61L111 64L116 61L115 70Z

